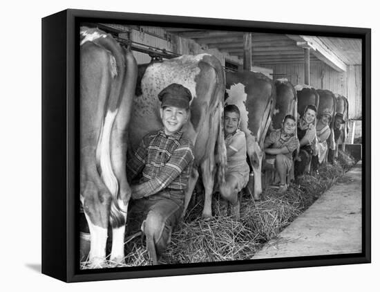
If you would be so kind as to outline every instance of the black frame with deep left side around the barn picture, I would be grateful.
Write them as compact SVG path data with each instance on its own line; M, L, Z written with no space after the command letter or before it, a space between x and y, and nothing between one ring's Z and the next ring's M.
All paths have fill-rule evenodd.
M77 264L75 236L77 207L75 191L79 190L79 22L140 24L144 26L190 26L218 30L240 30L265 33L355 37L363 46L363 172L362 172L362 253L282 259L255 259L238 262L140 266L80 271ZM136 277L192 275L232 271L255 271L274 268L330 266L369 263L371 260L370 197L370 96L371 96L371 30L338 26L281 24L262 21L240 21L145 15L93 10L64 10L42 19L42 273L65 282L114 280ZM52 260L54 258L54 261Z

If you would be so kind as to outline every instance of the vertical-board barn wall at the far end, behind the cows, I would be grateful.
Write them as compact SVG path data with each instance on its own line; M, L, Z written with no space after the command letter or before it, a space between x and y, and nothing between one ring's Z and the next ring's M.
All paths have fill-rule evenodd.
M260 64L273 69L274 79L287 78L292 84L304 84L303 63ZM338 72L323 62L310 64L310 85L316 89L328 89L348 98L350 118L361 118L361 65L348 66L346 72Z

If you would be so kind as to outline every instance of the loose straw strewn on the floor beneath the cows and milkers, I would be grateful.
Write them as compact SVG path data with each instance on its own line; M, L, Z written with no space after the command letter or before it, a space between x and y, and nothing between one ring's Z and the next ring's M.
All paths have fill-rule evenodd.
M171 235L171 244L160 262L187 264L251 259L265 242L311 206L354 163L353 158L339 152L337 163L321 165L319 174L305 175L284 194L268 188L260 201L243 196L238 221L228 216L229 206L218 196L213 197L213 219L202 219L203 202L198 201ZM139 238L126 244L126 266L148 264L149 255Z

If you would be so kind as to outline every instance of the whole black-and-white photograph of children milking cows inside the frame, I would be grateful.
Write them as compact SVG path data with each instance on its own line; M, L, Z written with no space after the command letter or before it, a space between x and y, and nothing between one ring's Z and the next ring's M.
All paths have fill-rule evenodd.
M361 39L79 38L80 269L362 253Z

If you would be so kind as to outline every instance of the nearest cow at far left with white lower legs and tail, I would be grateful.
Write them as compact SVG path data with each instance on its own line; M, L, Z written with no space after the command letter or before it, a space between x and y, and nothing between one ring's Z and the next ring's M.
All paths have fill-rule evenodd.
M126 135L137 80L131 51L97 28L80 29L80 201L91 234L89 266L124 262L131 189L126 181Z

